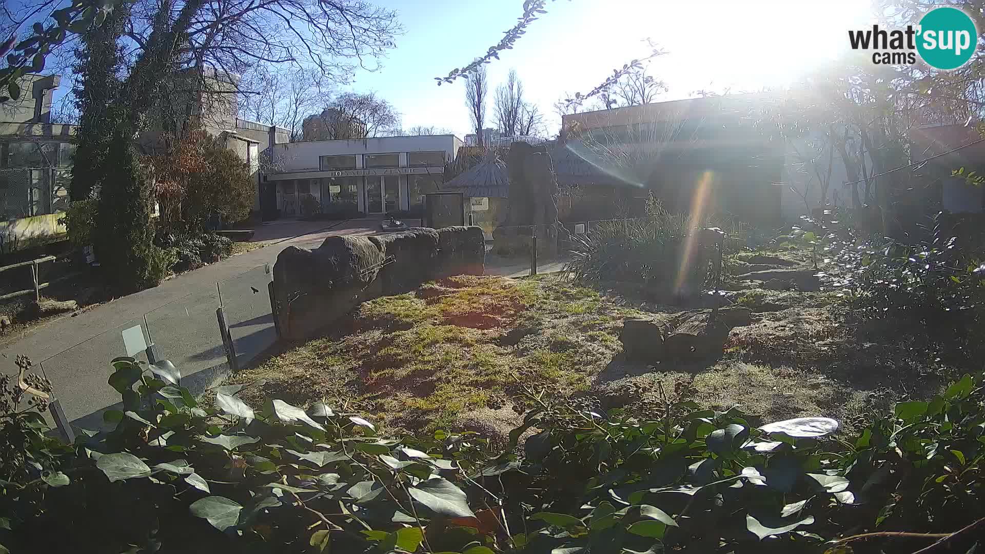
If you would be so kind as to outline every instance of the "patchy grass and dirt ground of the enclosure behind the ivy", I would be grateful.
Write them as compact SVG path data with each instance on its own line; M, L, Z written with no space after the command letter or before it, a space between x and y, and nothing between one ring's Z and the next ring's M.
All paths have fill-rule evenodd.
M733 274L766 267L813 271L803 251L730 260ZM605 409L645 415L658 383L665 390L689 385L704 407L741 404L763 422L833 417L851 428L900 397L933 394L946 379L925 361L894 355L899 349L885 336L861 336L836 295L762 289L735 278L727 285L726 298L750 308L753 321L733 328L725 355L706 363L624 361L625 319L680 309L557 276L455 277L367 302L333 334L230 382L264 380L242 394L254 405L267 397L298 405L324 400L383 427L503 437L521 421L528 392L587 396Z

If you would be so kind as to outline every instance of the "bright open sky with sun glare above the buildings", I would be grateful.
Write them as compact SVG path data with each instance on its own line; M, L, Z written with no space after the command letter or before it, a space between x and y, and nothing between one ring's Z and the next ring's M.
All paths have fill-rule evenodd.
M406 34L375 73L350 88L376 91L403 113L404 127L435 125L470 131L461 80L433 77L468 63L512 27L520 0L377 0L399 12ZM732 92L783 85L822 59L848 49L848 29L872 25L866 0L555 0L514 49L493 60L490 86L515 68L530 101L548 114L565 92L587 92L616 67L648 53L647 36L669 53L652 64L670 86L667 100L699 89ZM492 119L492 103L487 118Z

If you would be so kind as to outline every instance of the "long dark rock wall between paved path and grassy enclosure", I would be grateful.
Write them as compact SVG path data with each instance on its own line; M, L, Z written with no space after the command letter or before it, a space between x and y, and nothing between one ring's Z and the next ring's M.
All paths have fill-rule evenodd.
M275 317L282 338L315 336L362 302L451 275L482 275L479 227L414 228L372 237L329 237L313 249L289 246L274 264Z

